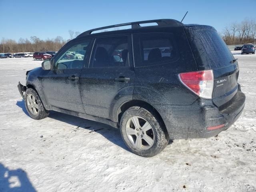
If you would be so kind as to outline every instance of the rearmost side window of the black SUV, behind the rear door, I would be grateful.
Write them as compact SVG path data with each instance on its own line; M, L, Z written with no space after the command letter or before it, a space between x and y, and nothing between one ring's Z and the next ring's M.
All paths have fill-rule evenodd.
M137 67L171 63L179 58L171 34L142 35L139 41L142 62L136 64Z

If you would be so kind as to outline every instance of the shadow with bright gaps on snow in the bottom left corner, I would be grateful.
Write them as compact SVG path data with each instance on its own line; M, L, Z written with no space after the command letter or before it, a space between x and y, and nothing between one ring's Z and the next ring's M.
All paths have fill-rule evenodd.
M24 170L21 168L10 170L2 163L0 163L0 191L36 192Z

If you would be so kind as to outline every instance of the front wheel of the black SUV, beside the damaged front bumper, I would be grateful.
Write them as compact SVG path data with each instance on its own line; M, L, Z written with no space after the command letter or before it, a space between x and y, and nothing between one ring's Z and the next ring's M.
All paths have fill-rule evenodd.
M44 108L40 97L34 89L28 88L26 90L24 100L26 110L31 118L40 120L49 115L49 111Z

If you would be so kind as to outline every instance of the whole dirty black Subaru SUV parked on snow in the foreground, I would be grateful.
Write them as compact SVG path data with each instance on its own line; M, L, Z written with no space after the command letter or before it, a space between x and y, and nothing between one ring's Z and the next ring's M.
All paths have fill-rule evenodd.
M109 124L132 152L150 157L169 139L229 128L245 104L238 74L213 27L162 19L88 30L28 71L18 89L32 118L54 110Z

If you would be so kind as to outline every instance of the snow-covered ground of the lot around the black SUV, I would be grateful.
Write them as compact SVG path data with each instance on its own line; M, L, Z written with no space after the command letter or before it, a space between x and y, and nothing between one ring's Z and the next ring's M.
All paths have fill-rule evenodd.
M33 120L17 84L42 61L0 59L0 191L255 192L256 55L239 53L242 116L217 137L174 140L152 158L105 124L58 112Z

